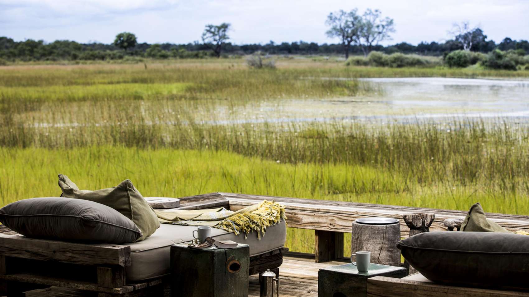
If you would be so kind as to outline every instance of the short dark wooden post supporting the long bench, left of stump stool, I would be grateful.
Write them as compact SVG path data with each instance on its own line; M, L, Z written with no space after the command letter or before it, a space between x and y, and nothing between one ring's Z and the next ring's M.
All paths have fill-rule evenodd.
M343 233L314 230L316 263L343 257Z

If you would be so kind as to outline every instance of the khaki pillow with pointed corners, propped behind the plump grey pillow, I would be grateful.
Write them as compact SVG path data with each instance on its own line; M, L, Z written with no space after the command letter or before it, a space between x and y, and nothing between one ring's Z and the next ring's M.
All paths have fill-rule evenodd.
M160 227L154 210L130 180L124 180L114 188L90 191L79 190L66 175L59 174L59 187L62 190L61 197L95 201L121 212L140 228L143 236L138 241L151 236Z

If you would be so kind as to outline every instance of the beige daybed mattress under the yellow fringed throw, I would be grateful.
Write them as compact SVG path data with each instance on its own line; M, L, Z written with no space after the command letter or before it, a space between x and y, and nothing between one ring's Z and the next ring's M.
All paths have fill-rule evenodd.
M181 240L190 242L193 240L193 226L180 226L170 224L160 224L160 228L149 238L142 242L128 244L131 247L132 265L126 268L128 281L141 281L152 279L153 277L169 274L170 267L170 246L181 243ZM266 229L265 236L257 239L257 233L248 234L244 239L244 234L236 236L224 230L211 228L211 237L220 240L233 240L241 244L250 246L250 256L270 252L276 248L283 247L286 239L285 221L270 226Z

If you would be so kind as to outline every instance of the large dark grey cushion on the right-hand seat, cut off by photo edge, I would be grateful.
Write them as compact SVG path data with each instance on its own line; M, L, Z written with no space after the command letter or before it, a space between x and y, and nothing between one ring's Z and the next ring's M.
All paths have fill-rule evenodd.
M428 280L478 287L529 288L529 236L429 232L400 240L404 258Z

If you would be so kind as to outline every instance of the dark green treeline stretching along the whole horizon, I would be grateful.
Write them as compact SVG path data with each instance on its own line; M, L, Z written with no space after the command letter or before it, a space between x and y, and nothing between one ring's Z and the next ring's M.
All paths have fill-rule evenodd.
M520 50L529 54L529 42L526 40L512 40L505 38L496 44L492 40L482 38L479 42L472 44L471 51L488 53L495 49L501 51ZM446 42L421 42L418 45L406 42L389 46L373 45L372 51L386 54L392 53L415 53L420 55L437 55L462 49L461 43L449 40ZM223 44L223 57L230 55L251 54L254 52L268 54L306 54L306 55L340 55L343 54L342 44L318 44L315 42L282 42L270 41L267 44ZM362 49L351 45L351 54L362 54ZM141 57L166 59L166 58L206 58L214 57L215 54L207 44L148 44L138 43L135 47L127 50L120 49L114 44L104 43L78 43L68 40L57 40L46 43L42 40L14 41L11 38L0 37L0 59L6 61L58 61L58 60L117 60L135 59Z

